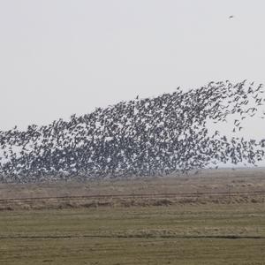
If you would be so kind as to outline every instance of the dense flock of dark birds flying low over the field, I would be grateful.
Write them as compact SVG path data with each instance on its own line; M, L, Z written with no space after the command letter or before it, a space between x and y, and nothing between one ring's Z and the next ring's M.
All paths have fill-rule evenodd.
M262 85L246 80L118 102L69 121L0 131L0 182L157 176L264 160L265 140L239 137L261 112ZM210 130L232 120L231 137ZM213 132L210 132L213 131Z

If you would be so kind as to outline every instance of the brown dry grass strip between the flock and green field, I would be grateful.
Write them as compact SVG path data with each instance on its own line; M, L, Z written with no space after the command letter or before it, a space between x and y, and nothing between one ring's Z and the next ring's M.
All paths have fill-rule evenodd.
M264 169L205 170L198 175L170 178L0 185L0 210L264 201Z

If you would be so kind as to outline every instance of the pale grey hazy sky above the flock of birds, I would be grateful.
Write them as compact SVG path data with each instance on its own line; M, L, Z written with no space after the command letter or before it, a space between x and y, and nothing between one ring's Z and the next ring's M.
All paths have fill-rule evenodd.
M0 0L0 130L210 80L265 83L264 33L264 0Z

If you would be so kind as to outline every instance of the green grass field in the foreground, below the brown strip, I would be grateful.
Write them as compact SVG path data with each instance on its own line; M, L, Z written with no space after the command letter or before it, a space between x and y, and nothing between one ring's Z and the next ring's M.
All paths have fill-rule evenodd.
M0 264L265 264L265 205L2 211Z

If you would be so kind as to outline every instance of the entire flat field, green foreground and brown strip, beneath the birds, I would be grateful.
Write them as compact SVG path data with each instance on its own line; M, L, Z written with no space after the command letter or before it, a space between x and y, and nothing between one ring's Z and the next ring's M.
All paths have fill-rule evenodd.
M1 185L0 264L265 264L264 187L264 170Z

